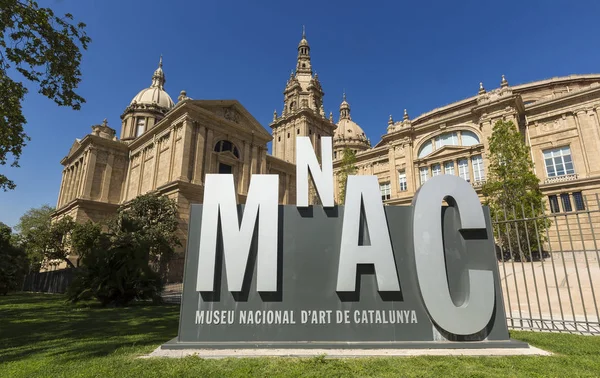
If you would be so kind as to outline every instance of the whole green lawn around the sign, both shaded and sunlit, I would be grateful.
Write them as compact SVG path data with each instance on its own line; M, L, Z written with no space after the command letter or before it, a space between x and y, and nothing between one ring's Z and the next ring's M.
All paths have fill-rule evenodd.
M512 332L556 353L518 357L137 359L177 334L179 306L100 308L0 297L2 377L598 377L600 337Z

